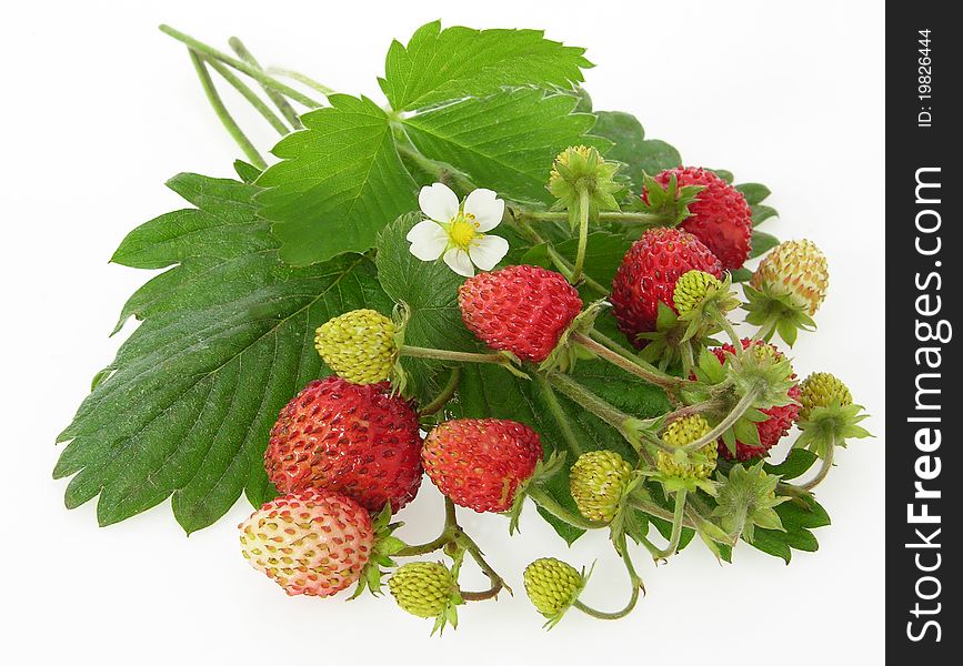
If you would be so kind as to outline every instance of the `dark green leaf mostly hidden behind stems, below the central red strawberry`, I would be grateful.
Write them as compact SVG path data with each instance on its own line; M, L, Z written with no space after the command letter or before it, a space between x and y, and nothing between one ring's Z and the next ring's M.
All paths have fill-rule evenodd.
M571 376L629 414L645 418L671 410L671 404L660 389L639 381L605 361L580 361ZM525 423L541 435L545 456L552 452L564 453L562 472L552 477L546 490L556 502L572 512L578 509L569 492L569 467L579 455L609 448L631 463L635 461L634 451L615 428L559 392L548 389L548 384L536 375L523 380L498 366L465 366L454 410L461 417L511 418ZM569 425L573 435L571 441L560 423ZM581 529L561 523L544 512L540 514L569 543L582 534Z

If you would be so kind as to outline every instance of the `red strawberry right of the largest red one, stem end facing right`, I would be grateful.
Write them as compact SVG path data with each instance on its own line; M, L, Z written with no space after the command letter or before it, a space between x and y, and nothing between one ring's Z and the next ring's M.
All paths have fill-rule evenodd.
M434 485L459 506L503 512L542 457L539 434L500 418L458 418L434 427L421 460Z

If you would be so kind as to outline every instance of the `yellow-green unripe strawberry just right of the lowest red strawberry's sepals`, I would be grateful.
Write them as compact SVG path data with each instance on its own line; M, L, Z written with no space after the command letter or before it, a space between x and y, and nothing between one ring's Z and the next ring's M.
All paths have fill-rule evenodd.
M583 453L569 472L569 490L579 513L611 523L632 480L632 467L614 451Z

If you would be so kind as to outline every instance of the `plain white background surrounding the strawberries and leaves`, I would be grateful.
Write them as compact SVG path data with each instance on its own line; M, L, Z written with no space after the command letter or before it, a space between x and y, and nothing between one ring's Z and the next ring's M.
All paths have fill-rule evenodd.
M344 92L379 95L391 38L421 23L541 27L598 64L598 109L635 113L686 163L762 181L782 213L768 229L806 236L831 262L817 335L793 350L804 375L831 370L883 431L883 19L875 2L19 2L0 24L2 191L3 614L8 664L171 663L882 663L883 445L856 442L819 496L833 526L791 566L745 546L719 566L693 547L656 568L619 623L571 613L540 630L521 569L539 555L600 558L586 601L620 607L623 573L601 534L568 551L526 515L462 516L515 597L463 607L458 632L390 599L288 598L238 551L239 503L185 538L160 506L98 528L93 502L67 512L50 477L90 377L113 356L124 299L146 274L107 263L124 233L182 202L179 171L231 175L239 152L207 107L168 22L227 50L241 36L268 64ZM234 98L228 95L233 101ZM377 99L380 99L377 98ZM238 113L265 150L270 129ZM766 203L770 203L766 202ZM130 326L126 332L129 332ZM243 501L242 501L243 502ZM411 541L433 536L425 484L404 512ZM482 581L469 576L470 584ZM679 658L681 662L665 662Z

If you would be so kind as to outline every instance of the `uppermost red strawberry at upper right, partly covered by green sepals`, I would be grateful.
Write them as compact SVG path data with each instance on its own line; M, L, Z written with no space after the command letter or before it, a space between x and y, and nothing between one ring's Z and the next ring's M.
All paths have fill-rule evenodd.
M681 224L698 238L722 262L724 271L734 271L749 259L752 244L752 209L742 193L705 169L685 167L669 169L655 176L663 188L672 176L680 188L703 185L689 205L692 213ZM643 199L645 194L643 193Z

